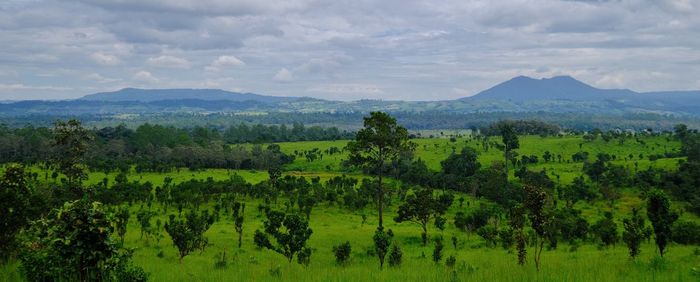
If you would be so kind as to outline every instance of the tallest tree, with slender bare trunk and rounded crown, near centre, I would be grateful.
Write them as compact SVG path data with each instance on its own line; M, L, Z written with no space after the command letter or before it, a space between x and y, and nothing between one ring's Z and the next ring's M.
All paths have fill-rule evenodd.
M408 131L396 123L387 113L372 112L364 118L364 128L360 129L355 140L348 143L350 153L347 163L368 169L377 175L377 202L379 208L378 226L383 227L384 187L382 177L387 163L397 160L402 154L413 152L416 145L408 140Z

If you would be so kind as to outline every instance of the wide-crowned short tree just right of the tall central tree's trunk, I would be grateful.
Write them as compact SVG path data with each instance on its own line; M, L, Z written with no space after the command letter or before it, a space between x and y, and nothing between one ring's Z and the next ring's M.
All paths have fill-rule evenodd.
M399 206L398 216L394 218L396 222L410 221L420 225L423 229L421 238L423 245L427 243L428 224L431 219L437 220L452 205L451 194L435 196L430 189L419 189L413 195L406 197L406 202Z

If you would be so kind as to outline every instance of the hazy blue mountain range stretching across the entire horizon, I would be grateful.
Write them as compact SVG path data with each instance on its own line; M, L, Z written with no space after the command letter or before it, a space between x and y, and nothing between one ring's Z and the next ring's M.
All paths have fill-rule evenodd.
M307 97L276 97L218 89L136 89L87 95L77 100L0 103L0 117L41 114L152 113L569 113L657 114L700 117L700 91L638 93L599 89L570 76L535 79L518 76L479 94L449 101L331 101Z

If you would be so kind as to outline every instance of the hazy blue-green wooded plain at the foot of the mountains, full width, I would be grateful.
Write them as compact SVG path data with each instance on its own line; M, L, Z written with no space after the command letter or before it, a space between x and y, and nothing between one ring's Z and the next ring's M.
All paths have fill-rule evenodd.
M690 128L700 128L700 119L688 116L662 115L655 113L636 114L592 114L592 113L549 113L549 112L474 112L455 113L450 111L425 111L425 112L390 112L396 117L398 123L409 130L426 129L480 129L488 127L501 120L538 120L544 123L555 124L563 129L571 131L591 131L600 129L609 131L621 130L646 130L653 131L673 130L676 124L687 124ZM304 124L307 127L337 127L341 130L355 131L362 127L364 112L260 112L260 113L165 113L165 114L140 114L140 115L24 115L7 116L2 118L2 123L9 127L23 127L27 124L33 126L53 125L57 119L77 118L88 127L115 127L125 124L129 128L136 128L144 123L160 124L165 126L193 128L196 126L216 128L224 132L230 126L245 124L282 125L286 124L291 129L293 124Z

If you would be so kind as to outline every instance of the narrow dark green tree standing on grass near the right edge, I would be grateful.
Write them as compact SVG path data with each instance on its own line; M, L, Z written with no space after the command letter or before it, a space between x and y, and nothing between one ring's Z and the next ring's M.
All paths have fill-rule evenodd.
M647 216L654 227L654 239L663 257L666 245L671 241L671 227L678 220L678 214L671 211L671 201L661 190L652 190L647 199Z

